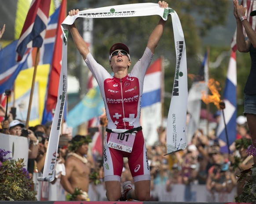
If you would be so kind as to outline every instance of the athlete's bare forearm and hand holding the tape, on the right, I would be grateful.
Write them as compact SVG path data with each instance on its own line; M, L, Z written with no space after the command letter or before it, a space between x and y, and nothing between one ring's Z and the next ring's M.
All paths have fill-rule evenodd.
M158 4L161 8L166 8L168 7L168 3L165 1L158 1ZM152 53L154 53L157 44L163 34L165 27L165 21L161 18L156 26L156 28L153 30L151 33L148 42L147 42L147 47L151 50Z

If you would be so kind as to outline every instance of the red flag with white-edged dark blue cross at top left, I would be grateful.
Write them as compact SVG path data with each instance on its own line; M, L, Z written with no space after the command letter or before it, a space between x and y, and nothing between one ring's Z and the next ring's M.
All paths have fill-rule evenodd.
M51 0L33 0L16 47L16 61L22 60L27 47L41 47L48 23Z

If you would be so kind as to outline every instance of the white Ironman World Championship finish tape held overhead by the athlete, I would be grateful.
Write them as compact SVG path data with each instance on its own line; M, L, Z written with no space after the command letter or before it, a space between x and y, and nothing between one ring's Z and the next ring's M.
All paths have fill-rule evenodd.
M43 179L54 179L56 152L59 143L59 125L62 121L63 106L66 101L66 77L67 77L67 37L68 25L72 25L77 18L123 18L159 15L165 21L172 16L172 25L176 49L176 73L172 91L172 101L168 113L167 123L167 154L186 148L186 115L187 115L187 58L186 45L179 17L172 8L161 8L159 4L124 4L110 7L101 7L79 11L75 16L67 16L62 22L62 70L59 82L59 100L57 102L53 119L51 135L44 165ZM50 177L52 177L50 179ZM50 179L50 180L49 180Z

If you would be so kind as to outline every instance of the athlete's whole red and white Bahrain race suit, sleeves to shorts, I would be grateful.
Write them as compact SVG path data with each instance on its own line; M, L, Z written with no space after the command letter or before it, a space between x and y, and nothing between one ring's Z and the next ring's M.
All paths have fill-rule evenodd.
M105 105L108 120L107 129L121 129L125 132L140 127L143 80L152 58L152 52L146 48L142 58L134 65L132 71L126 77L116 78L112 77L104 67L97 63L91 53L87 55L85 63L99 84ZM150 169L142 131L139 130L136 133L131 153L110 148L108 146L110 132L106 136L103 152L105 181L121 181L123 157L128 157L134 182L150 180Z

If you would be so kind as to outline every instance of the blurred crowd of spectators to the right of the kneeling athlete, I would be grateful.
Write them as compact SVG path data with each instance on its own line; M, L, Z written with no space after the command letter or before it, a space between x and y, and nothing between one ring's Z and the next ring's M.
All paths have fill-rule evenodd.
M165 135L164 131L163 133ZM159 141L166 141L161 137L163 136L160 134ZM183 184L188 188L191 184L202 184L212 194L230 193L237 189L238 196L242 193L243 183L237 182L237 176L253 165L253 156L246 153L251 144L244 116L237 118L237 139L230 145L230 153L221 150L214 130L208 135L201 129L197 130L185 150L168 156L163 156L166 152L165 142L159 142L153 147L148 147L152 187L162 182L165 184L165 190L171 191L175 184ZM189 193L187 195L189 196Z

